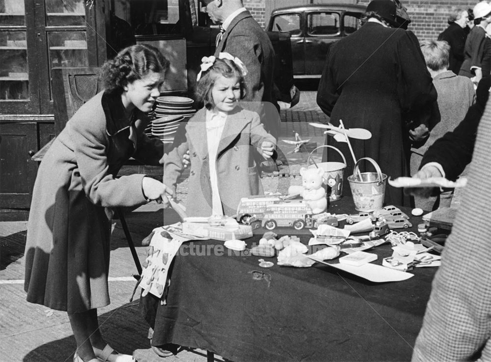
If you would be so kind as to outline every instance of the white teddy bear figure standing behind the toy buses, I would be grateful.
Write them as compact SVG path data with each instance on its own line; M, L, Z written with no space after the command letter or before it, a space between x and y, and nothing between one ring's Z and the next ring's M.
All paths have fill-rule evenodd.
M319 214L327 209L326 190L324 189L324 170L322 168L300 168L302 185L288 188L289 194L300 194L303 202L307 204L312 213Z

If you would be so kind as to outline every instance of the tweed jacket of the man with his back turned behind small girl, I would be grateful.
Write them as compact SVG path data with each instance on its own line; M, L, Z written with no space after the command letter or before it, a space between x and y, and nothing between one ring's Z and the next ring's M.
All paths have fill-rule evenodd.
M277 135L279 116L273 117L273 112L269 111L267 105L263 106L265 109L260 107L260 102L277 105L273 93L273 44L250 12L243 11L232 20L218 43L215 56L218 57L220 52L228 52L246 65L246 97L243 101L253 103L243 106L259 113L264 128Z

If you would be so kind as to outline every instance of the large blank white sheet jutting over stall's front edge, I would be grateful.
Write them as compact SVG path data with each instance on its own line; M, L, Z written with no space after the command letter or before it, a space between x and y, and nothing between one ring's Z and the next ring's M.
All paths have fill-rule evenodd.
M374 283L385 283L385 282L400 282L406 279L413 277L413 274L402 272L399 270L389 269L382 265L367 263L361 266L353 266L348 264L340 264L340 263L327 263L322 260L314 259L309 256L312 260L315 260L319 263L323 263L333 268L344 270L348 273L354 274L363 279L369 280Z

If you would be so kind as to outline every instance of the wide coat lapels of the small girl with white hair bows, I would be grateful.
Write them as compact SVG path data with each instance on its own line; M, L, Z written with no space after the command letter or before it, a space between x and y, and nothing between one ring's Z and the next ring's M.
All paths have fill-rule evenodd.
M221 133L218 144L219 156L237 138L237 135L246 127L248 120L244 116L243 109L237 107L233 113L229 113L225 127ZM193 145L201 159L208 156L208 142L206 139L206 108L201 108L188 121L186 126L189 142Z

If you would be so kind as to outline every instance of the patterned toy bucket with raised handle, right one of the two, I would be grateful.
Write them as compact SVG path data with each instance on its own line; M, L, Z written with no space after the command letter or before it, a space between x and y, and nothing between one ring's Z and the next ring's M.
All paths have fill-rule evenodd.
M366 159L370 161L377 172L359 172L358 163ZM373 158L363 157L356 161L353 175L348 176L355 209L358 211L375 211L383 206L385 196L385 181L387 175L382 174L379 165Z

